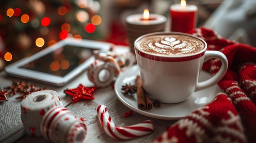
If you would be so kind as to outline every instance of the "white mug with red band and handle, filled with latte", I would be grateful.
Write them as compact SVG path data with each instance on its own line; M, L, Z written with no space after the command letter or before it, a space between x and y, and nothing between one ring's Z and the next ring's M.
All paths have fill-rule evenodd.
M134 47L143 88L162 103L182 102L193 92L217 84L228 67L223 53L207 51L204 40L186 33L149 33L137 38ZM203 63L212 58L222 62L220 70L198 82Z

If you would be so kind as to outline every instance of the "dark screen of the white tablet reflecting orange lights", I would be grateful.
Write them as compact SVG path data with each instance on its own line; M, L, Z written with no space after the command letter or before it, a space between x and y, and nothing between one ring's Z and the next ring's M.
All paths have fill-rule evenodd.
M95 49L95 48L94 48ZM91 48L65 45L43 57L20 66L52 75L65 76L71 70L92 56Z

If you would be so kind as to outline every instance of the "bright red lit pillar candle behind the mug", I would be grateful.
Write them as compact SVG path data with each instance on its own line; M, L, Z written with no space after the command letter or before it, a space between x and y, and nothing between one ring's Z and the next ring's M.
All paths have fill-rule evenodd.
M197 24L198 7L186 4L181 0L180 4L172 4L170 7L171 31L187 33L194 29Z

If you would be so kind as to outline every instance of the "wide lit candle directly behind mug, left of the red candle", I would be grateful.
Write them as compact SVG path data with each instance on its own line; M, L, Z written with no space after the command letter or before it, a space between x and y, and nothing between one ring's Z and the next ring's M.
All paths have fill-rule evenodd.
M126 35L131 52L134 51L134 41L147 33L164 31L167 18L163 15L150 13L150 17L143 18L143 13L129 15L126 18Z

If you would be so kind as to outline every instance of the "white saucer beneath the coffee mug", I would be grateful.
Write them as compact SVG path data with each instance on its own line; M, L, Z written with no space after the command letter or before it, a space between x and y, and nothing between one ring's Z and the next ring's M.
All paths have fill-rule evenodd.
M137 73L135 75L132 75L132 73ZM207 75L208 77L211 76L209 73L207 73L206 71L202 70L201 72L202 75ZM196 106L198 106L197 108L192 108L190 109L190 112L188 112L188 114L182 114L182 115L165 115L165 114L161 114L160 112L157 114L157 113L153 113L151 112L151 110L140 110L139 108L137 108L137 100L136 100L136 103L133 103L133 105L131 105L130 103L128 103L128 98L127 97L124 97L125 95L122 94L122 90L121 90L121 86L124 86L126 83L128 84L128 82L124 82L124 79L125 78L130 78L130 79L134 79L134 82L135 82L135 78L136 76L139 75L139 70L138 70L138 66L137 65L134 65L128 69L126 69L123 73L120 73L120 75L117 77L116 81L115 81L115 85L114 85L114 90L115 90L115 93L116 93L116 96L117 98L121 101L121 103L123 103L126 107L130 108L131 110L139 113L139 114L142 114L144 116L147 116L147 117L152 117L152 118L156 118L156 119L163 119L163 120L178 120L178 119L181 119L183 117L186 117L189 113L193 112L193 110L196 110L204 105L206 105L207 103L209 103L210 101L212 101L212 99L216 96L216 94L218 92L220 92L220 87L216 84L210 88L207 88L207 89L204 89L204 92L209 92L209 91L213 91L213 92L209 92L211 93L211 95L208 97L209 99L207 99L207 101L205 103L200 103L200 104L195 104ZM133 77L133 78L132 78ZM199 96L200 95L200 92L195 92L193 95L195 96ZM192 95L192 96L193 96ZM126 95L126 96L130 96L130 95ZM134 95L132 95L134 97L136 97L136 93ZM191 97L190 97L191 98ZM207 97L206 97L207 98ZM192 100L192 99L191 99ZM189 102L191 103L191 100L190 99L187 99L186 101L183 101L181 103L176 103L176 104L163 104L161 103L161 107L162 106L165 106L165 108L173 108L173 106L182 106L185 105L185 104L188 104L186 102ZM193 104L193 103L192 103ZM159 108L155 108L153 110L159 110L161 111L161 107ZM183 110L185 111L185 110Z

